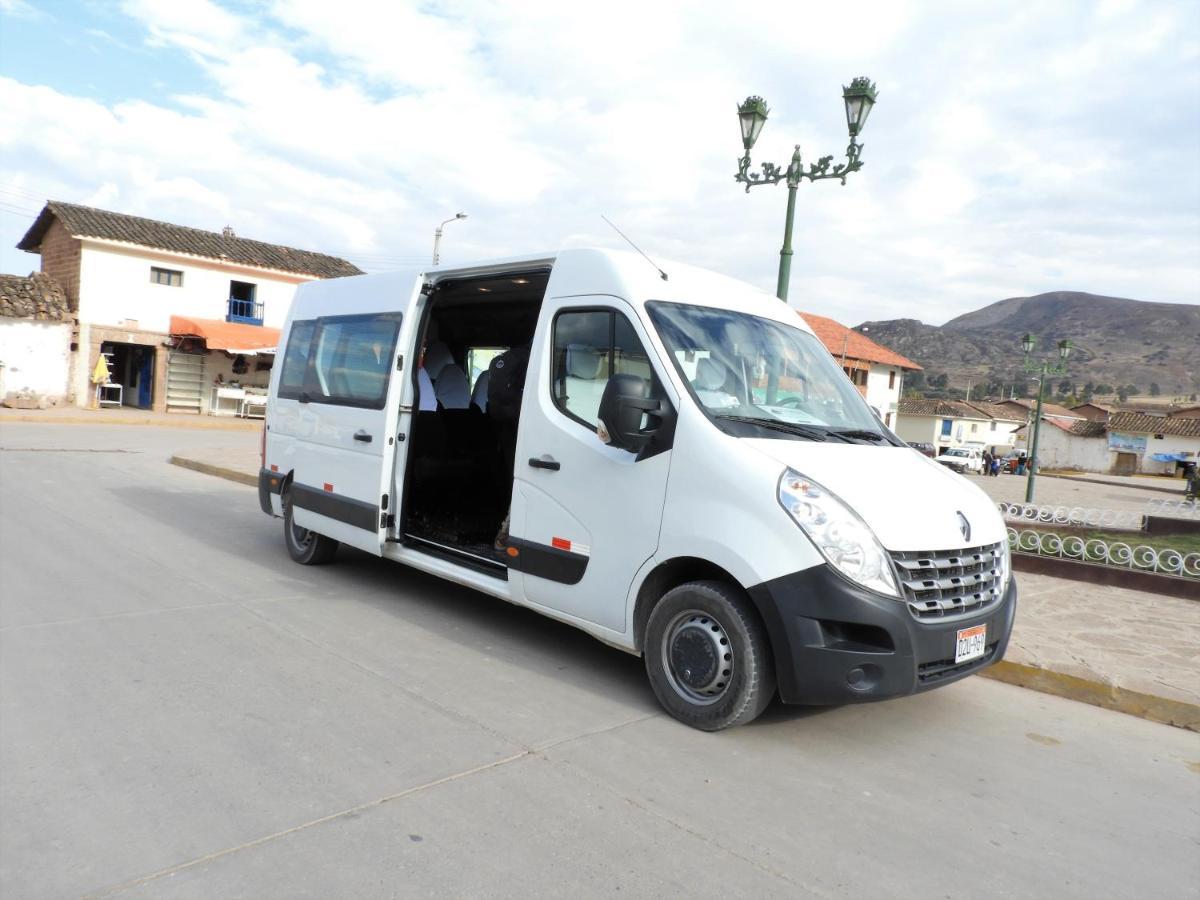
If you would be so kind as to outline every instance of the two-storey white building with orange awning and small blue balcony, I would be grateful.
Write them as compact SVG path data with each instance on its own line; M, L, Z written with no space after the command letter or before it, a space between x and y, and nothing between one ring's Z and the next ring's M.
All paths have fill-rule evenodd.
M361 274L344 259L229 228L218 234L58 200L17 246L41 254L42 274L67 298L66 392L78 406L97 400L101 356L112 385L101 397L121 406L202 412L227 373L265 389L269 364L229 350L272 348L298 284ZM187 334L172 334L172 317L190 323Z

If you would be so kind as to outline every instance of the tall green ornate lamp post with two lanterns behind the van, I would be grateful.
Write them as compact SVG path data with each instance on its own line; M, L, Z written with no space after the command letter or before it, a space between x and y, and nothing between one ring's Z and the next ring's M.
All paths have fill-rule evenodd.
M746 97L738 107L738 119L742 122L742 146L745 154L738 161L738 174L734 181L746 186L746 193L757 185L778 185L780 181L787 182L787 218L784 223L784 246L779 251L779 282L775 287L775 296L787 302L787 282L792 274L792 222L796 217L796 188L800 181L821 181L827 178L835 178L841 184L846 184L846 175L863 168L859 160L863 148L858 143L858 136L866 125L866 116L871 114L875 106L876 90L869 78L856 78L848 88L841 90L842 100L846 103L846 126L850 130L850 146L846 148L846 162L830 167L832 156L822 156L815 163L809 163L809 170L804 170L800 163L800 145L796 145L792 161L786 169L780 169L773 162L762 163L762 173L750 172L750 150L754 149L758 139L762 126L767 124L767 114L770 112L762 97Z

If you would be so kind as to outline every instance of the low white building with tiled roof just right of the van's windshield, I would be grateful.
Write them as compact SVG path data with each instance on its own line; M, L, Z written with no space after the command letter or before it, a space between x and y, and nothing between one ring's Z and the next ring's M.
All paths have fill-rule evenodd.
M895 432L908 443L932 444L938 454L955 446L982 446L996 456L1012 452L1025 418L996 403L958 400L902 400Z

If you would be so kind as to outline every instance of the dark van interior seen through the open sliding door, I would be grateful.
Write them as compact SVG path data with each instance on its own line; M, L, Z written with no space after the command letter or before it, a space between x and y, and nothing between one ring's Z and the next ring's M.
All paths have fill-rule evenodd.
M490 409L488 368L505 350L529 347L548 278L539 270L439 282L419 342L424 374L414 370L403 540L498 575L506 571L496 539L512 499L517 421ZM420 396L431 385L433 398Z

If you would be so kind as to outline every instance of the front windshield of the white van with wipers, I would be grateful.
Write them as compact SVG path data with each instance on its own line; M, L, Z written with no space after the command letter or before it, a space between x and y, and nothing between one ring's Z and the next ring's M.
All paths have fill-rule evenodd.
M894 443L815 335L732 310L661 301L647 310L692 396L719 424L761 422L755 437L796 426L802 438Z

